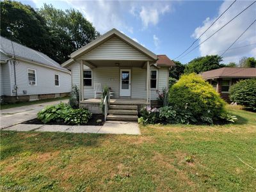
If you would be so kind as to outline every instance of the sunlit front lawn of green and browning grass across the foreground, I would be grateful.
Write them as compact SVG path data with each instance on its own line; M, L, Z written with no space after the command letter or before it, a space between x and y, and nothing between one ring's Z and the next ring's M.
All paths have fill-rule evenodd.
M28 191L255 191L256 115L140 136L1 132L1 186ZM241 158L244 163L242 163Z

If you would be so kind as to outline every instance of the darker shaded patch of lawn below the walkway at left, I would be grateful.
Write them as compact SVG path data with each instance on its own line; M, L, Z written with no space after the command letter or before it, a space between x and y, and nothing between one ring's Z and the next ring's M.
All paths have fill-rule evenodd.
M74 134L67 132L1 132L1 157L19 156L24 152L55 152L77 147L98 147L108 134Z

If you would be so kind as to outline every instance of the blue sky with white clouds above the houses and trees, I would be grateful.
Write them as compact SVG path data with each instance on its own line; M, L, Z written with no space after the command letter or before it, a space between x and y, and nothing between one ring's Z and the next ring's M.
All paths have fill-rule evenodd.
M74 8L100 32L116 28L156 54L176 58L216 19L232 1L21 1L33 8L44 3L62 10ZM210 36L253 1L236 1L205 33L198 43ZM221 54L256 19L256 3L184 57L182 63L206 54ZM245 46L245 47L244 47ZM240 47L240 48L237 48ZM244 33L223 55L223 62L238 62L242 56L256 56L256 24Z

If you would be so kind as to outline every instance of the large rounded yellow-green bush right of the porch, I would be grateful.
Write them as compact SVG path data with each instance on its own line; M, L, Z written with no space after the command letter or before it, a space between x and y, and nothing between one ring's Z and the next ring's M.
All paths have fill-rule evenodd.
M188 111L185 113L186 118L195 116L199 121L201 116L218 118L225 106L211 84L196 74L183 75L173 84L169 92L169 103L175 111L181 111L180 114Z

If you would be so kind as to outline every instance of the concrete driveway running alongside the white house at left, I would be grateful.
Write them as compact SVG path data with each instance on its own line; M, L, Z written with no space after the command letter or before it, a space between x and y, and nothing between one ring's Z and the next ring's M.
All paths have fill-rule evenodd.
M3 109L1 110L0 129L4 129L6 127L10 127L12 125L20 124L21 122L36 118L36 114L45 108L45 106L58 104L60 102L68 102L68 99L54 100L51 102L44 102L18 108Z

